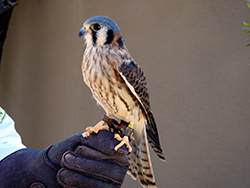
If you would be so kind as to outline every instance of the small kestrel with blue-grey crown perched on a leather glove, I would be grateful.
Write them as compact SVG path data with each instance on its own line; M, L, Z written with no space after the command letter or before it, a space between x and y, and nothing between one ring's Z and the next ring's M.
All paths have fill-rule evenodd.
M82 61L84 82L90 88L97 103L106 112L106 117L117 122L127 122L133 130L131 136L115 137L130 148L128 174L139 179L143 187L156 187L149 155L148 142L158 157L165 160L153 113L149 104L146 77L140 66L131 57L117 24L105 16L87 19L79 31L84 36L86 49ZM100 121L89 132L108 129ZM148 141L147 141L148 140Z

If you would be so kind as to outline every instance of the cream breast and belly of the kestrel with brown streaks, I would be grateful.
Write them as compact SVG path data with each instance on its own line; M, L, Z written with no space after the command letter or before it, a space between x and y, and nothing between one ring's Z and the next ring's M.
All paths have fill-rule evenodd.
M100 49L86 49L82 62L84 81L108 115L128 122L138 121L142 111L117 70L120 61L119 56Z

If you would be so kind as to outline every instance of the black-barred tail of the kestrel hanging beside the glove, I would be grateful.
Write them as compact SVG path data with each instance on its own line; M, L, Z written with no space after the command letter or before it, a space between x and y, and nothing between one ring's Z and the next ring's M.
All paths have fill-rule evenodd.
M148 149L148 141L146 129L143 130L140 145L136 147L135 142L132 143L132 152L129 155L129 169L127 173L134 179L140 181L144 188L157 188L153 167L151 164L150 153Z

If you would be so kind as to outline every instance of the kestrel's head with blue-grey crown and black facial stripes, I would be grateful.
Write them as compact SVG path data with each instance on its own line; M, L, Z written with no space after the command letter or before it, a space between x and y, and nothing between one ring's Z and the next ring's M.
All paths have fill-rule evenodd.
M123 37L118 25L106 16L95 16L87 19L79 31L88 46L115 45L123 47Z

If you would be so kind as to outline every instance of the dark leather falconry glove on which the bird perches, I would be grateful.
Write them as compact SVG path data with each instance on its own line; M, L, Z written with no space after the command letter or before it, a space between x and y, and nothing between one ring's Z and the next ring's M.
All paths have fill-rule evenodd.
M45 150L18 150L0 162L0 187L120 187L128 151L123 146L115 153L117 144L101 130L85 138L77 133Z

